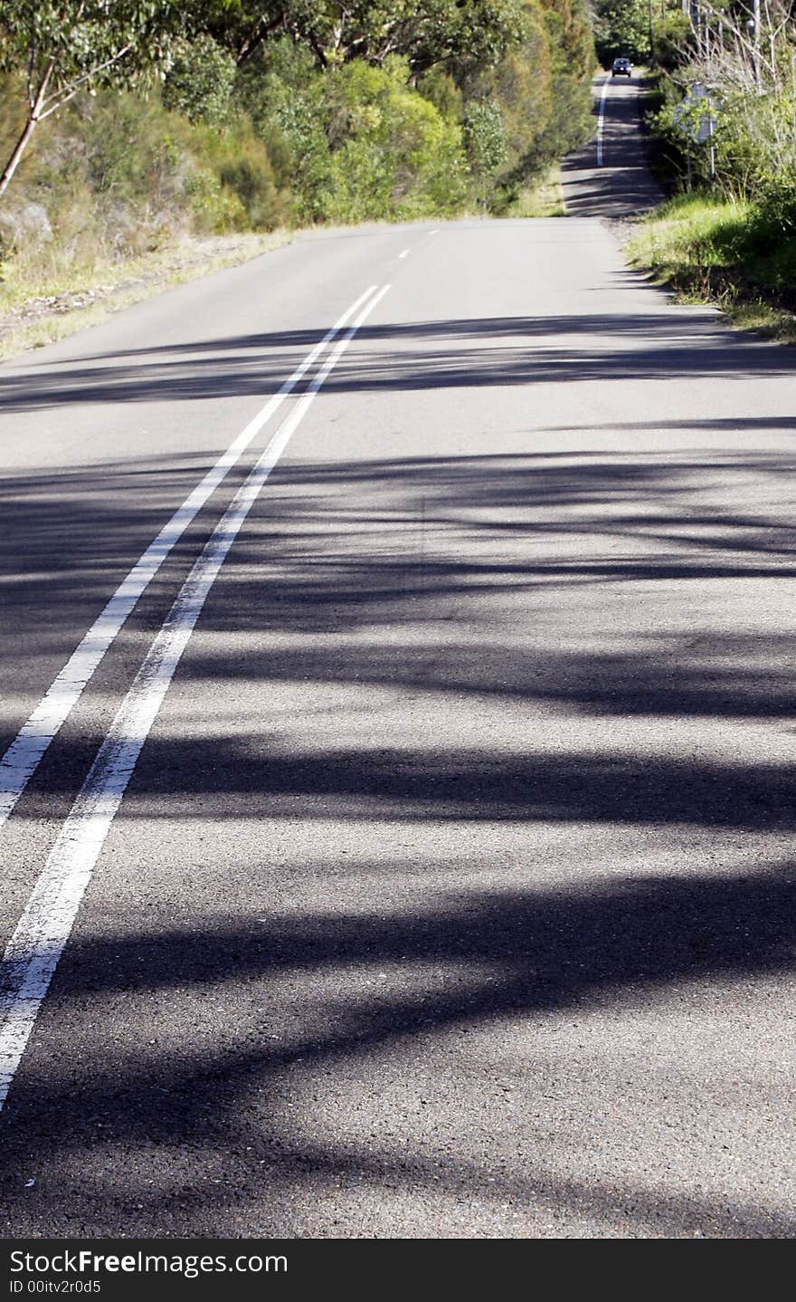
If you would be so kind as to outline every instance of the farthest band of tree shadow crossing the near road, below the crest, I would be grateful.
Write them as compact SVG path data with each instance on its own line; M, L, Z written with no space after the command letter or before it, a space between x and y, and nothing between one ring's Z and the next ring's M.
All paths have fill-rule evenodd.
M631 283L637 293L637 284ZM631 288L628 286L628 288ZM620 289L618 289L620 292ZM323 331L169 345L120 365L81 359L0 380L3 410L265 398ZM124 354L122 354L124 355ZM94 365L94 362L99 365ZM324 384L329 393L427 392L584 381L792 375L788 349L717 328L714 312L626 311L363 326Z

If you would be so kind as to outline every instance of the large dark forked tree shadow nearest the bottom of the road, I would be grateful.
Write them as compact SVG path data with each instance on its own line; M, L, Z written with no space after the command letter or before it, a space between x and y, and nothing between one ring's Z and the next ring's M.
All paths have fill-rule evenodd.
M510 1198L519 1212L566 1207L619 1224L631 1236L654 1228L666 1237L695 1229L719 1237L791 1237L793 1220L770 1207L674 1194L665 1184L659 1193L622 1187L622 1181L579 1185L544 1164L524 1172L509 1167L496 1176L488 1164L437 1152L421 1138L399 1155L384 1135L367 1144L350 1137L337 1146L330 1137L320 1141L302 1108L307 1091L324 1081L328 1088L336 1072L343 1087L351 1073L377 1079L389 1049L410 1061L440 1056L440 1085L449 1088L445 1059L467 1052L460 1042L457 1048L457 1034L477 1034L506 1018L536 1022L538 1060L524 1060L516 1075L503 1066L510 1079L501 1086L537 1118L544 1147L545 1090L548 1098L555 1091L544 1060L544 1019L566 1010L580 1022L593 1013L610 1018L622 1008L649 1013L662 991L692 982L714 988L709 997L715 1000L728 982L743 987L761 976L784 978L796 939L795 887L796 870L787 866L748 879L695 874L555 891L455 891L388 915L339 907L303 917L272 913L259 924L186 917L185 928L111 931L96 939L83 932L60 969L49 1018L69 1021L83 1005L96 1018L105 999L112 999L105 1016L126 1008L140 1018L155 999L148 1046L127 1042L121 1049L108 1046L101 1060L90 1055L51 1062L44 1079L26 1062L4 1118L7 1195L17 1203L14 1185L33 1150L48 1152L55 1170L81 1155L90 1168L88 1193L77 1191L78 1204L68 1210L64 1189L43 1173L35 1215L52 1217L56 1230L66 1212L70 1224L88 1217L99 1234L120 1223L127 1233L139 1224L150 1233L152 1225L168 1234L186 1224L195 1233L221 1233L237 1211L246 1215L250 1198L295 1195L313 1182L339 1189L355 1177L375 1189L427 1187L486 1203ZM269 984L285 978L304 1001L298 1016L289 1010L286 1018L269 996ZM182 1000L181 1025L168 1013L170 992ZM209 1046L200 1030L202 1001L225 999L243 1023L259 1023L259 1030L237 1043L228 1036L228 1043ZM263 1012L252 1022L260 1003ZM87 1043L94 1043L91 1032ZM563 1062L555 1070L564 1070ZM299 1100L293 1121L291 1098ZM498 1103L493 1124L502 1129ZM243 1141L254 1156L242 1157L234 1190L229 1184L219 1189L217 1165L230 1154L242 1156ZM168 1193L157 1178L148 1191L143 1181L129 1191L114 1187L103 1161L96 1169L98 1151L111 1160L130 1150L147 1155L156 1176L160 1152L191 1178ZM290 1234L289 1217L287 1229L282 1220L267 1232Z

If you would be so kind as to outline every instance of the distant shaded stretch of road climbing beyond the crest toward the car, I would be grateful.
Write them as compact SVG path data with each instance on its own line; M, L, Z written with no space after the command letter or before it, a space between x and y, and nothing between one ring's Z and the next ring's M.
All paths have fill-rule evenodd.
M646 164L640 89L636 77L594 79L596 135L562 168L567 216L628 219L663 198Z

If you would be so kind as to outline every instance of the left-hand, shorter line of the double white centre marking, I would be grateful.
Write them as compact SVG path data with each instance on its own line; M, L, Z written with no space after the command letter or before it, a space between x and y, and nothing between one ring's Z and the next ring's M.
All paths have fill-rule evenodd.
M130 573L105 605L104 611L94 621L82 642L73 651L72 656L53 680L47 693L42 697L34 712L22 725L13 742L0 760L0 828L8 819L14 805L20 799L27 783L35 773L42 756L49 746L59 729L68 719L81 698L81 694L100 664L105 651L122 628L125 620L135 608L139 598L165 561L166 556L179 540L194 517L202 510L208 497L215 492L221 480L260 432L263 426L282 405L289 393L293 392L299 380L306 375L312 363L317 361L326 344L330 344L354 312L376 293L377 285L360 294L355 303L342 314L334 326L324 335L320 344L307 353L307 357L297 367L293 375L285 380L281 389L258 411L245 430L230 443L226 452L208 470L207 475L182 503L182 506L172 516L168 525L150 543L146 552L135 562Z

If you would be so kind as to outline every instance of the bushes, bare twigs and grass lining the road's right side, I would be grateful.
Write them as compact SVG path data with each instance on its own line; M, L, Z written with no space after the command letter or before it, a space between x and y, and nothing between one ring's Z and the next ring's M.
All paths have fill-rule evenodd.
M598 23L596 35L600 48ZM682 296L714 302L737 324L793 342L791 3L700 3L688 14L678 5L666 9L665 21L656 16L653 42L648 125L671 198L639 225L630 254Z

